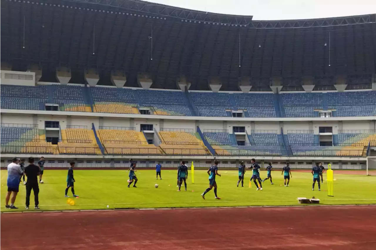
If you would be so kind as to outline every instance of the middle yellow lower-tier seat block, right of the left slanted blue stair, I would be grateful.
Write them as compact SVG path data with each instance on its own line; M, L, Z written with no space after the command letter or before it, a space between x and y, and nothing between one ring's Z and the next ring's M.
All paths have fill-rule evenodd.
M99 127L99 138L110 155L161 155L163 151L148 144L142 132L127 127Z

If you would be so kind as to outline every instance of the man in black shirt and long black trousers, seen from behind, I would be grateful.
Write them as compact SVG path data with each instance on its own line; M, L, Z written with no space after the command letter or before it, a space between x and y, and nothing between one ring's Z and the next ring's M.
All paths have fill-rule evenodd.
M38 186L38 175L39 175L39 167L34 165L34 157L29 157L29 166L25 168L25 174L27 176L26 182L26 209L29 209L30 205L30 194L31 190L34 192L34 201L35 207L34 209L39 209L39 186Z

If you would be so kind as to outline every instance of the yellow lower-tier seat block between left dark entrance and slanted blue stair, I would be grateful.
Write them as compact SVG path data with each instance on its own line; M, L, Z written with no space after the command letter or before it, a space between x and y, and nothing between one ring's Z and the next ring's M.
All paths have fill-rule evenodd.
M102 154L96 143L94 132L86 126L67 126L61 130L60 154Z

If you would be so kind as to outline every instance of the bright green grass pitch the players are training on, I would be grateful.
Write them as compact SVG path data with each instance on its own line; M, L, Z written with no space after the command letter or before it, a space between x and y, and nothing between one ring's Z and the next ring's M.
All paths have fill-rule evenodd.
M265 181L264 190L256 191L255 185L249 188L251 172L246 173L244 188L237 188L238 172L220 170L222 177L217 177L218 196L210 191L203 200L200 194L209 186L208 175L204 170L196 170L195 184L188 179L188 191L177 192L176 170L162 170L163 180L156 181L155 171L138 170L138 188L127 188L128 171L126 170L75 170L75 191L80 196L74 199L76 205L67 205L64 197L67 170L45 170L44 184L39 184L39 202L43 210L63 209L106 209L113 208L165 208L165 207L203 207L203 206L262 206L262 205L297 205L297 197L321 199L321 204L370 204L376 203L376 176L355 174L336 175L334 181L335 197L327 196L327 184L324 181L321 192L312 191L312 175L309 172L292 172L290 187L284 187L280 170L273 171L274 185ZM335 173L335 171L334 171ZM6 171L0 172L0 197L6 195ZM261 172L264 178L266 172ZM189 173L190 177L190 173ZM324 179L325 179L324 175ZM154 185L158 183L159 188ZM317 190L317 184L316 184ZM71 191L68 195L71 196ZM30 206L33 206L33 194ZM3 200L4 202L4 200ZM25 187L20 186L15 205L22 211L25 203ZM33 209L32 209L33 210ZM2 203L0 211L10 211Z

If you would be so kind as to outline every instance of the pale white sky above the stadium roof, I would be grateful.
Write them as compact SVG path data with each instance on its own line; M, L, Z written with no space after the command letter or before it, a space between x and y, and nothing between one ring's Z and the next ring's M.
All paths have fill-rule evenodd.
M376 13L376 0L149 0L180 8L232 15L253 20L344 17Z

